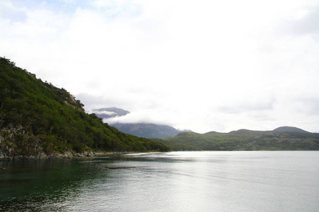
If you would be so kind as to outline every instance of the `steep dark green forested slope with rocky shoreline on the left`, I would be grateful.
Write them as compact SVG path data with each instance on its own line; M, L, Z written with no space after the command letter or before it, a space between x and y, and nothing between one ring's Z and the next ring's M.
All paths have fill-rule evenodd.
M0 57L0 158L50 158L96 151L168 151L118 131L64 88Z

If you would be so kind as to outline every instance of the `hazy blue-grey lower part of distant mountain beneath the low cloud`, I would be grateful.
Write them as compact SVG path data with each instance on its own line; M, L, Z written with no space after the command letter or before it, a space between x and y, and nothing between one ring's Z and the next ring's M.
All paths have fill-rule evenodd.
M123 131L127 134L134 136L139 136L143 138L154 138L161 139L171 136L176 136L181 131L175 129L172 126L158 125L158 124L111 124L115 126L118 130Z

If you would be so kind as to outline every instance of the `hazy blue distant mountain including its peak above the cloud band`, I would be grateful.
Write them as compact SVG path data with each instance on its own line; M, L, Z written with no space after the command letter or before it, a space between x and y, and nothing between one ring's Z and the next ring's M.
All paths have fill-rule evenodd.
M96 116L107 119L112 117L122 117L130 112L127 110L123 110L118 107L106 107L106 108L99 108L91 110L94 112ZM126 124L126 123L116 123L110 124L111 126L116 127L119 131L123 131L126 134L131 134L133 136L143 137L147 139L162 139L168 138L171 136L176 136L177 134L184 132L175 129L172 126L167 125L159 125L159 124L152 124L152 123L133 123L133 124Z

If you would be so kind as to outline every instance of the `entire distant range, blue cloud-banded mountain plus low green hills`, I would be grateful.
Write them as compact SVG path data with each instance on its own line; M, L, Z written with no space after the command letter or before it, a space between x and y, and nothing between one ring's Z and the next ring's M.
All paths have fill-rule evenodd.
M95 110L113 117L129 112L116 107ZM106 119L107 122L107 119ZM272 131L240 129L229 133L209 131L198 134L193 131L179 131L172 126L158 124L110 124L118 130L134 136L164 143L172 151L305 151L319 150L319 134L310 133L293 126L280 126Z

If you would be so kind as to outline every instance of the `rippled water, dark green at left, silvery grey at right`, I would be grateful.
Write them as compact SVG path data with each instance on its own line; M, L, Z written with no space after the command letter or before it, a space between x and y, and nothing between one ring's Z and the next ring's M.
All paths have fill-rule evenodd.
M0 162L0 211L319 211L319 151Z

